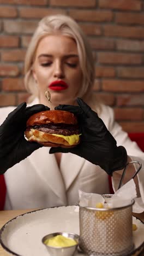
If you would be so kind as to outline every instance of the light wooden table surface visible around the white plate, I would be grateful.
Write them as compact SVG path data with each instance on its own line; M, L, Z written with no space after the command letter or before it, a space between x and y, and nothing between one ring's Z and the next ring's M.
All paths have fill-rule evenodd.
M38 209L28 209L28 210L13 210L13 211L0 211L0 229L2 228L2 226L8 222L10 219L15 218L16 216L19 216L23 213L26 212L30 212L30 211L34 211L34 210L38 210ZM133 214L134 216L136 216L137 218L143 220L144 222L144 212L140 213L140 214ZM4 251L4 249L2 248L2 246L0 245L0 256L8 256L8 253ZM140 254L141 256L144 255L143 253Z

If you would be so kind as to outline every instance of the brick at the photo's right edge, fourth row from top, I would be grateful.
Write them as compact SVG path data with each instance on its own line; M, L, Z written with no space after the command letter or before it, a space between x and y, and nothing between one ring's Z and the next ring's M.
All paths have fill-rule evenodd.
M143 40L127 40L127 39L117 39L116 48L118 50L124 51L143 51L144 42Z

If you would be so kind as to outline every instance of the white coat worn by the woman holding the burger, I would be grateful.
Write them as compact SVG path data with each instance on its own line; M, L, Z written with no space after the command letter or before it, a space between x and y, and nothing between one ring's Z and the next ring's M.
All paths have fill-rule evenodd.
M37 100L31 105L36 103ZM15 107L0 108L0 124L14 109ZM135 142L130 141L127 133L114 121L113 110L110 107L103 105L99 117L115 137L117 145L124 146L132 160L142 163L142 169L137 177L144 203L144 153ZM99 166L67 153L62 154L58 167L55 155L50 155L49 150L49 147L39 148L5 172L5 210L75 205L79 201L79 189L87 193L109 193L108 176ZM113 173L114 190L118 188L121 173L122 171Z

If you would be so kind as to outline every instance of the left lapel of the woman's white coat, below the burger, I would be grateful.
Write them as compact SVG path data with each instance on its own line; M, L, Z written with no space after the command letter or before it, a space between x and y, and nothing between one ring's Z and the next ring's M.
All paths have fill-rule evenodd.
M44 182L47 183L53 193L61 198L64 205L67 205L63 177L61 171L59 171L55 155L50 155L49 150L49 147L39 148L29 156L29 160L35 167L40 179L45 180Z

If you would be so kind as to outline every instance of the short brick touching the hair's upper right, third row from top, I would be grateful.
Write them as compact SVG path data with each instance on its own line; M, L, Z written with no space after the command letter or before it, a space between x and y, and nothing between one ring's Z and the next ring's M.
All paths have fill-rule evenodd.
M88 35L99 36L101 34L101 26L96 24L79 24L83 32Z

